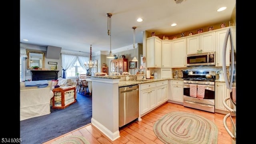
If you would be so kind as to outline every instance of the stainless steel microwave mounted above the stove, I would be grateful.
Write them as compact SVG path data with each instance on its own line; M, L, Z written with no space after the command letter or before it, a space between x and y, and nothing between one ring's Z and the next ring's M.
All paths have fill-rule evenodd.
M187 66L212 66L215 65L215 52L203 52L187 55Z

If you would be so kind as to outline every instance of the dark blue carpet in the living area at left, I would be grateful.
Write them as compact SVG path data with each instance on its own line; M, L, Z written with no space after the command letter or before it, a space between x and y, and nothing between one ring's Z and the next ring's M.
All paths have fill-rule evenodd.
M42 144L91 123L92 96L77 93L76 102L45 116L20 121L22 144Z

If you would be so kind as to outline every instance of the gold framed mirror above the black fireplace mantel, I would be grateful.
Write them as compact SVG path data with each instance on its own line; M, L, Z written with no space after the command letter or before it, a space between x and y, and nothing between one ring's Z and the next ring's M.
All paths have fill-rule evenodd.
M44 52L27 50L27 56L27 69L34 69L34 66L38 66L38 70L44 68Z

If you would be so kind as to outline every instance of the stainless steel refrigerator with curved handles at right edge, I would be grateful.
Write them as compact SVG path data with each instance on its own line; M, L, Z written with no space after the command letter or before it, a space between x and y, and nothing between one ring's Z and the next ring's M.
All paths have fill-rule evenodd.
M223 118L224 128L232 138L232 144L236 144L236 6L233 10L233 25L228 28L223 46L222 70L227 88L230 90L230 96L223 100L225 108L229 111ZM231 49L227 48L230 44ZM226 66L226 51L230 51L230 65ZM231 126L227 125L230 121Z

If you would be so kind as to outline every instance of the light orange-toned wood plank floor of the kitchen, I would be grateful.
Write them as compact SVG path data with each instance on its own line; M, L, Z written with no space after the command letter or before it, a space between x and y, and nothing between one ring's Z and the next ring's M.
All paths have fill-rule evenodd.
M122 128L120 130L120 138L113 142L102 134L102 132L100 132L97 128L91 124L88 124L72 132L45 142L44 144L51 144L55 140L71 135L84 136L91 144L164 144L161 140L156 138L153 131L153 125L162 116L174 111L192 112L208 118L214 122L216 126L218 126L218 144L232 144L232 138L228 135L223 126L224 114L205 112L169 102L143 116L142 121L133 122L130 125ZM230 121L227 121L227 123L231 130Z

